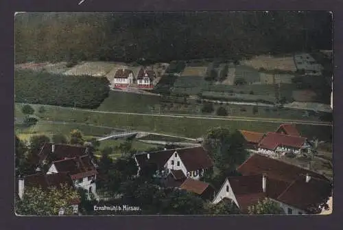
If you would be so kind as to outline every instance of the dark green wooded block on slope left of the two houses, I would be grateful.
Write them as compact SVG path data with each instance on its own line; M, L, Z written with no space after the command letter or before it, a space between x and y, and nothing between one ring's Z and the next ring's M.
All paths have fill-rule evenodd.
M97 108L110 91L107 78L15 71L15 102Z

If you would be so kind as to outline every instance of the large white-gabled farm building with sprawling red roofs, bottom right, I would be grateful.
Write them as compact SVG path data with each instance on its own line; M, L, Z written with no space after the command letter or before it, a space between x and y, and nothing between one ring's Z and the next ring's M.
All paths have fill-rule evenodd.
M229 198L243 214L265 198L287 215L320 214L332 192L331 181L321 174L260 154L249 157L237 171L242 176L228 177L213 203Z

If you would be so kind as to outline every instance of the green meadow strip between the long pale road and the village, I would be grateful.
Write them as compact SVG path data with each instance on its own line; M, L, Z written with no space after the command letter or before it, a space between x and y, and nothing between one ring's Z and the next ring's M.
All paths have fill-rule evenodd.
M35 106L39 107L39 106ZM120 115L110 113L85 112L79 109L45 106L43 119L61 122L88 122L89 124L110 126L114 128L130 128L133 130L153 131L181 137L198 138L214 126L226 126L230 130L245 129L257 132L275 130L280 124L270 122L227 121L214 119L193 119L186 117L152 117L142 115ZM303 126L304 135L314 133L329 139L331 127Z

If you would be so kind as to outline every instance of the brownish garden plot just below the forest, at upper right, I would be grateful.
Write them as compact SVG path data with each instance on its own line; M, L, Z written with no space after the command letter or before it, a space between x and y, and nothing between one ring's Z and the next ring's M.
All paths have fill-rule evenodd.
M242 60L242 65L248 65L255 69L267 69L267 70L274 70L274 69L281 69L284 71L296 71L296 65L294 63L293 57L281 57L276 58L273 56L256 56L255 58L251 58L250 60Z

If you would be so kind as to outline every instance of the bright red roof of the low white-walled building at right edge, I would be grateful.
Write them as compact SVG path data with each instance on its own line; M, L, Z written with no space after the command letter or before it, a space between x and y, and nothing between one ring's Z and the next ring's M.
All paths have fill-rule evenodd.
M296 137L290 135L283 135L281 133L269 132L259 143L260 148L274 150L277 146L288 146L294 148L301 148L305 143L305 137Z

